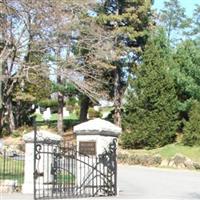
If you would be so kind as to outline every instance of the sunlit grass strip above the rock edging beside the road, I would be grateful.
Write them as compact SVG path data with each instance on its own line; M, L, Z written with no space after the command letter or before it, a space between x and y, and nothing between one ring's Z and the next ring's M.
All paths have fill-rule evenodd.
M159 154L163 159L169 159L175 154L182 154L193 161L200 162L200 146L183 146L182 144L169 144L161 148L152 150L120 150L123 153L139 155L156 155Z

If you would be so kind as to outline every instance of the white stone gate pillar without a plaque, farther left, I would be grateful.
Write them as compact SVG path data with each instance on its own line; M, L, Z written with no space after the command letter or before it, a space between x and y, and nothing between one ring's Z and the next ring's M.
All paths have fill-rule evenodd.
M24 194L33 194L34 192L34 131L27 133L23 136L25 141L25 167L24 167L24 184L22 186L22 193ZM51 140L60 142L62 137L56 134L53 134L48 131L40 130L37 131L37 144L42 143L44 140ZM43 152L52 152L53 149L49 148L49 146L41 145ZM41 154L39 166L37 166L37 170L39 173L44 173L43 177L39 177L37 182L41 182L39 179L44 179L44 181L51 181L51 171L50 167L47 166L46 160L48 159L48 153ZM53 161L49 161L53 162ZM49 164L49 163L48 163ZM52 177L53 178L53 177Z

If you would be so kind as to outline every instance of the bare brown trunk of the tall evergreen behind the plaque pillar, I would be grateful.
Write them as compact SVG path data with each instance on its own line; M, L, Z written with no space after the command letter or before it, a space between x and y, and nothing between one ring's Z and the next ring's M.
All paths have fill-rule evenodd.
M120 68L116 68L114 85L114 123L121 127L121 106L123 97L123 85L120 81Z

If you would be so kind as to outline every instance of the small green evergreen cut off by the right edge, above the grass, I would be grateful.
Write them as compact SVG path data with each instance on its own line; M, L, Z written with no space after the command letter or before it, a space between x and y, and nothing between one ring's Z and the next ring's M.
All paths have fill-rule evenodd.
M194 101L189 112L189 121L185 122L183 144L200 145L200 102Z

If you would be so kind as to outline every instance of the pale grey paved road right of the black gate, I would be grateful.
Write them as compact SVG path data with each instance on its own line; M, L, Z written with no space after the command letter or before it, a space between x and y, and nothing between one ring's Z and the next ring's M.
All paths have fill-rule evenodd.
M119 197L129 199L200 199L200 172L118 167Z

